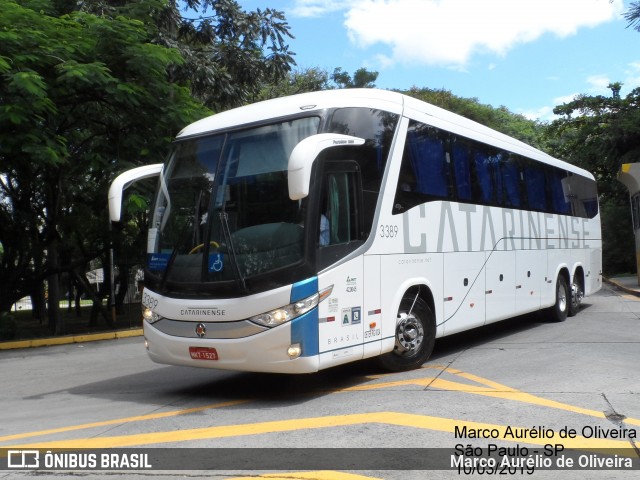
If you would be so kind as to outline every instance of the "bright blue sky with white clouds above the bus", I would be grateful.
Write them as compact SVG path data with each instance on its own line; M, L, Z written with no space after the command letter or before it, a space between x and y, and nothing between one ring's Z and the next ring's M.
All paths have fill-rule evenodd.
M298 69L378 72L378 88L445 89L552 120L575 95L640 86L630 0L238 0L285 13Z

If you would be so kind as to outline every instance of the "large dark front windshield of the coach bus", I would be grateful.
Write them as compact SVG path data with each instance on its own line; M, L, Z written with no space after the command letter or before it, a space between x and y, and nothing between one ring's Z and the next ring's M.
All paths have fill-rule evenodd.
M304 259L304 201L287 165L319 117L178 142L160 177L147 271L165 286L245 280ZM180 288L182 290L182 288Z

